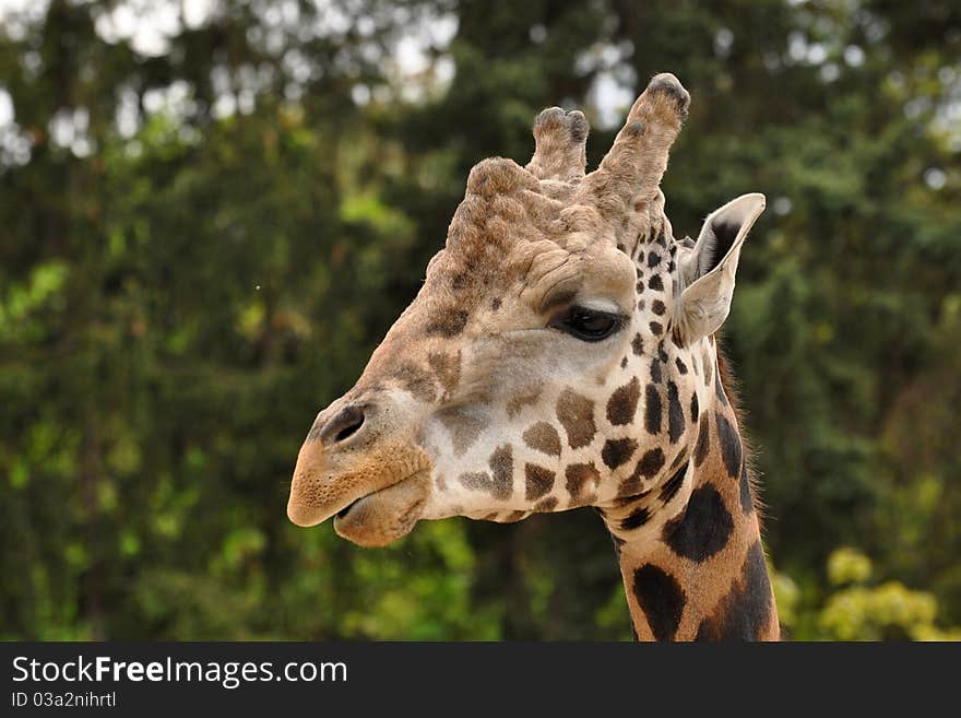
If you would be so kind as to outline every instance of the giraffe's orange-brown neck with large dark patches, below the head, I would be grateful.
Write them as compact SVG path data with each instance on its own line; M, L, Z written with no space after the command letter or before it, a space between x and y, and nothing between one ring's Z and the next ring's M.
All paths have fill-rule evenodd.
M735 409L721 387L726 365L717 358L716 391L703 402L690 456L672 476L671 491L686 501L669 518L652 517L644 531L613 531L641 640L780 638L748 461ZM618 514L625 510L630 507ZM608 527L612 518L605 513Z

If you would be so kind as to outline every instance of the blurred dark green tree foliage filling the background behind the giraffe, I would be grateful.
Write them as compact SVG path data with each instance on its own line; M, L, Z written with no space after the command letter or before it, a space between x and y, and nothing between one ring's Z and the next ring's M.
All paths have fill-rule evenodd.
M470 166L555 104L596 163L596 89L664 70L676 233L769 199L724 343L788 636L959 638L956 2L250 0L149 48L103 35L122 2L28 4L0 17L0 638L629 638L590 510L364 551L284 504Z

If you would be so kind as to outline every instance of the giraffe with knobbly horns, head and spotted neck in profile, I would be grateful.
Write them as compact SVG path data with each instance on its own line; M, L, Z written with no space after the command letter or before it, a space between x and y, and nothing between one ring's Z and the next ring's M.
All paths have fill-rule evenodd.
M376 546L420 519L594 506L638 639L779 639L716 340L764 197L674 237L660 183L689 104L655 75L589 174L588 121L558 107L525 167L474 166L419 293L317 415L294 523Z

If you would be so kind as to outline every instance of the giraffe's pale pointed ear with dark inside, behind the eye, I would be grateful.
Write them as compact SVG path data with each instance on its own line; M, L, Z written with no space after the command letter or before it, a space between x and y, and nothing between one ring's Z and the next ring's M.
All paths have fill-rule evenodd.
M679 326L685 341L714 333L731 310L740 246L764 211L764 196L743 195L715 210L690 254L680 262Z

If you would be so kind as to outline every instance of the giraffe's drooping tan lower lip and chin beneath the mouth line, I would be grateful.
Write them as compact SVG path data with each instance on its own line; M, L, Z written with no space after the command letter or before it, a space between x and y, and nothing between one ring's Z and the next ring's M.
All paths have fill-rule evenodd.
M429 493L430 470L422 469L342 508L334 517L334 531L361 546L387 545L411 532Z

